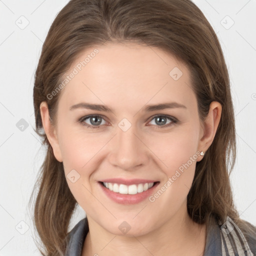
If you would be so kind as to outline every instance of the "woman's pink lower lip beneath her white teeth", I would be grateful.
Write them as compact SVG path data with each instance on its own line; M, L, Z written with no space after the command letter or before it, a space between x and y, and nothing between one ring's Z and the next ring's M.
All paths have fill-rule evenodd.
M144 199L146 199L147 197L149 197L152 194L153 190L159 184L159 181L157 181L152 187L150 187L146 191L136 193L136 194L116 193L116 192L109 190L105 186L103 186L103 184L101 182L98 182L98 184L99 184L100 188L103 190L103 192L113 201L115 201L117 203L121 203L121 204L135 204L135 203L139 203L139 202L143 201Z

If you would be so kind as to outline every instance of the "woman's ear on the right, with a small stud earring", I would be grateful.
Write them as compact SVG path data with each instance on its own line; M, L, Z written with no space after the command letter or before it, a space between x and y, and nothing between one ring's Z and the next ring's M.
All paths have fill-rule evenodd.
M200 130L200 140L198 143L198 151L205 152L211 145L221 116L221 104L217 101L212 101L209 106L209 112L205 117ZM200 155L198 156L200 157Z

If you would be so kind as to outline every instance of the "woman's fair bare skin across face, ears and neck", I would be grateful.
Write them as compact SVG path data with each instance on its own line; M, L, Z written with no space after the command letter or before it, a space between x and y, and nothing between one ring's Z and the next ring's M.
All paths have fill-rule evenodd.
M67 73L94 48L83 51ZM202 255L205 225L192 222L186 197L196 161L203 156L192 161L154 202L146 198L137 204L116 203L98 189L97 181L149 178L159 180L160 188L196 151L205 152L210 146L221 115L220 103L211 102L202 123L189 69L172 55L134 43L96 48L95 57L61 90L55 126L49 121L46 102L40 105L45 133L56 159L63 162L65 175L72 169L80 175L74 183L66 180L88 218L82 255ZM169 75L174 67L183 73L177 80ZM82 101L104 104L113 112L69 110ZM148 104L171 101L186 108L141 110ZM99 128L77 122L89 114L103 116ZM152 118L155 114L173 116L178 122L167 127L171 121L166 119L162 127ZM125 132L118 127L123 118L131 124ZM83 122L96 126L90 118ZM125 234L118 228L122 221L131 227Z

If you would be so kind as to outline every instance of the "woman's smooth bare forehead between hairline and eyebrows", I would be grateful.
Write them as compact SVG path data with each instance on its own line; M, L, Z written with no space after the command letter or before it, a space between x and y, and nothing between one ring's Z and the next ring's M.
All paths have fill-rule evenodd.
M73 73L73 75L70 75ZM193 104L189 69L170 53L135 43L107 43L79 54L65 73L60 101L130 107L177 101ZM72 76L72 78L70 78ZM63 78L64 79L64 78Z

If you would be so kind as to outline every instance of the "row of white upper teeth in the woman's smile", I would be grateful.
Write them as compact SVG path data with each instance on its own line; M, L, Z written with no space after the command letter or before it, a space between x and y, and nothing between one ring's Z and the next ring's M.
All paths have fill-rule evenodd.
M120 194L136 194L146 191L148 188L153 186L153 182L151 183L140 183L138 185L124 185L124 184L117 184L117 183L110 183L110 182L103 182L104 186L109 190L120 193Z

